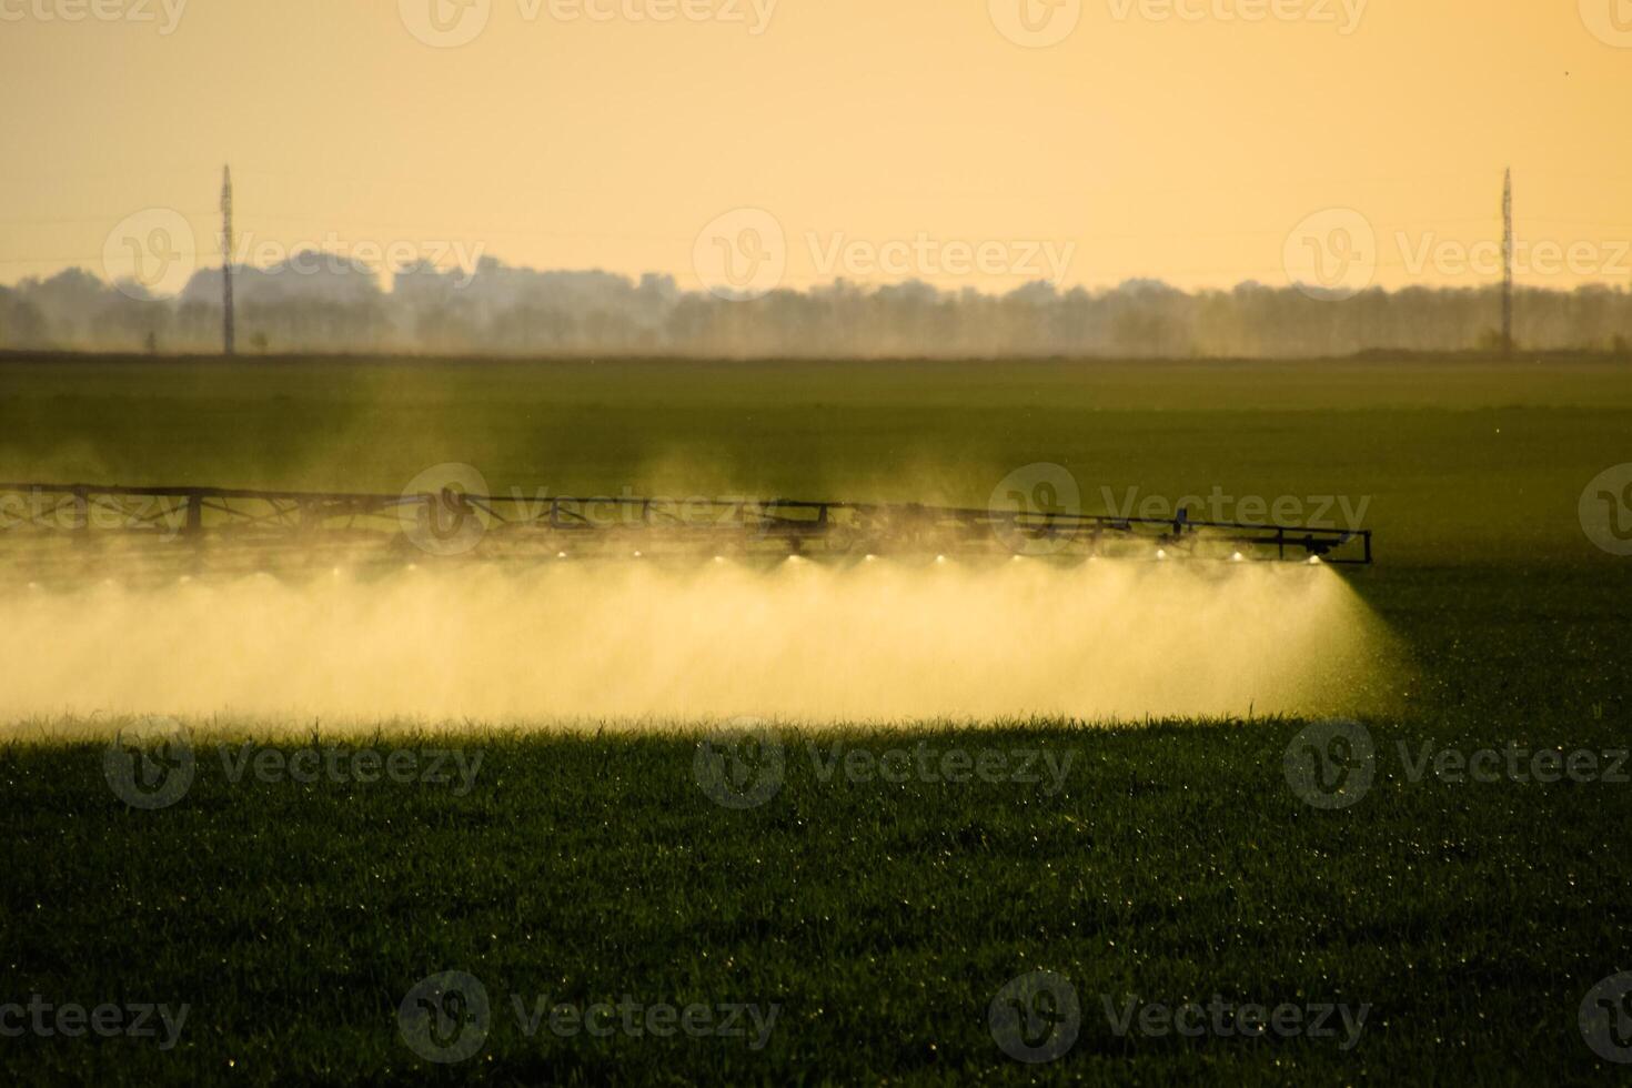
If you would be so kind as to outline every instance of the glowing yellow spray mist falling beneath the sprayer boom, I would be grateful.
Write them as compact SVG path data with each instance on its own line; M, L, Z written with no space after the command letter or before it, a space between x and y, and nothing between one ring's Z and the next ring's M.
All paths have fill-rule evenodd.
M584 559L20 590L0 718L633 728L1363 711L1390 638L1330 568ZM18 726L24 728L24 726Z

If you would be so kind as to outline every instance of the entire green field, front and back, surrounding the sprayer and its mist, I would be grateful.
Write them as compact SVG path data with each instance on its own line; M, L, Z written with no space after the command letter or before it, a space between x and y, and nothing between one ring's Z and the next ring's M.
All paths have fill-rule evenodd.
M1010 470L1054 462L1089 509L1102 488L1369 499L1377 566L1345 577L1410 657L1399 713L1364 723L1369 793L1340 809L1294 793L1283 759L1307 723L1279 719L785 732L785 783L741 811L698 786L684 723L349 742L480 752L462 796L232 781L212 744L237 754L240 731L204 723L196 781L162 811L109 789L101 742L29 739L108 723L10 723L0 1005L165 1002L189 1018L170 1050L0 1037L0 1068L16 1083L1609 1080L1578 1008L1632 969L1632 785L1413 781L1412 760L1629 745L1632 558L1596 548L1577 514L1588 481L1629 460L1632 369L1583 360L0 360L0 480L395 493L465 462L529 493L984 504ZM919 741L1069 755L1071 773L1056 793L824 780L806 747ZM442 971L480 979L493 1010L452 1065L398 1034L405 995ZM1031 971L1069 979L1082 1010L1074 1047L1040 1065L987 1021ZM529 1036L511 1005L625 995L778 1018L754 1049ZM1342 1036L1118 1034L1105 1010L1214 995L1369 1013L1345 1050Z

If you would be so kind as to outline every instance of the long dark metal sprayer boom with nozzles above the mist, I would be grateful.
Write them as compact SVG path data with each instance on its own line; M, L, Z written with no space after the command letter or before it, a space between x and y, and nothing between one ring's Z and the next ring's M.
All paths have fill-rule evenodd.
M1035 556L1371 563L1371 530L793 499L0 484L0 561L42 548L490 558Z

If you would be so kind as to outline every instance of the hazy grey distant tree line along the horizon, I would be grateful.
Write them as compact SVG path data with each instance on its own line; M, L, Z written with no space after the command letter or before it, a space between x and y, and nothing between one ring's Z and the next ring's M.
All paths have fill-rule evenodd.
M669 276L534 271L485 258L468 272L406 269L382 290L366 268L240 269L240 351L424 354L676 354L715 357L1346 356L1500 344L1497 287L1373 289L1320 299L1240 284L1183 292L1028 284L1002 295L907 282L836 282L731 300ZM1632 349L1632 290L1521 289L1514 338L1534 351ZM70 269L0 287L0 347L212 352L220 271L176 297Z

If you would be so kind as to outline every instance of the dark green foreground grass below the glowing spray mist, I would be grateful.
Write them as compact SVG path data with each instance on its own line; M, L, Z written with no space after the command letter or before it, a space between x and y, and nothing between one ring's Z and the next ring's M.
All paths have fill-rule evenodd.
M1374 723L1381 780L1353 809L1324 812L1283 778L1294 732L1260 721L924 737L1071 754L1054 796L1012 781L823 781L790 736L782 791L743 812L703 794L695 742L681 737L467 739L485 762L465 798L233 785L206 749L193 791L162 812L111 794L100 745L13 749L8 993L189 1003L191 1019L173 1052L28 1039L0 1062L31 1083L473 1070L501 1083L1121 1083L1128 1059L1151 1083L1590 1078L1575 1016L1586 988L1625 966L1627 788L1413 785L1392 747L1423 734ZM1625 744L1590 719L1567 739ZM494 1018L470 1065L439 1068L400 1041L397 1006L449 969L485 982ZM994 1046L986 1010L1036 969L1069 977L1085 1015L1072 1052L1031 1068ZM1105 997L1213 993L1364 1003L1371 1018L1342 1052L1123 1039L1102 1011ZM780 1021L761 1052L736 1039L527 1037L512 995L777 1003Z

